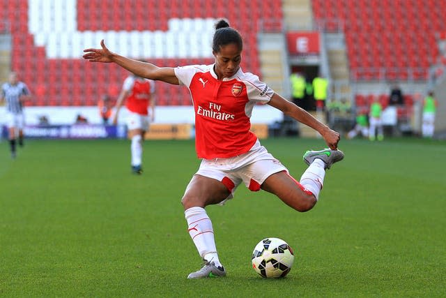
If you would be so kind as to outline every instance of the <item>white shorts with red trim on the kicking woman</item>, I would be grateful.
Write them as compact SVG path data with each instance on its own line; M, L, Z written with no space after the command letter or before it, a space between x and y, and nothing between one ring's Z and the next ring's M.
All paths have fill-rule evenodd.
M233 193L242 181L250 191L259 191L268 177L282 171L289 172L257 140L245 154L231 158L203 159L196 174L222 181L231 192L227 200L233 198Z

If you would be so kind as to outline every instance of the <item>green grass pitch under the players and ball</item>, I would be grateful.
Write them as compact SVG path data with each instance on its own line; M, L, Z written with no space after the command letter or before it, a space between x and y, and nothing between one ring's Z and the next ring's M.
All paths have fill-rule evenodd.
M323 140L262 143L297 179ZM207 208L226 278L187 280L201 260L180 204L193 141L148 141L130 174L127 140L0 143L0 297L446 297L446 143L341 140L316 207L298 213L245 186ZM295 264L251 268L264 237Z

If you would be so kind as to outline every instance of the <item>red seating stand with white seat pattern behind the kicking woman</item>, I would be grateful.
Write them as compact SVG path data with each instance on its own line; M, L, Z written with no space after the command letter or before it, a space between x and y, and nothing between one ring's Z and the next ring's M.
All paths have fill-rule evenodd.
M34 106L93 106L102 94L116 98L128 73L81 58L102 38L114 52L160 66L212 63L218 17L230 16L245 38L242 66L259 73L259 21L282 17L280 1L261 0L0 0L0 7L0 19L10 24L0 29L10 30L13 40L11 68L35 94L28 103ZM156 87L158 105L191 105L185 88Z

